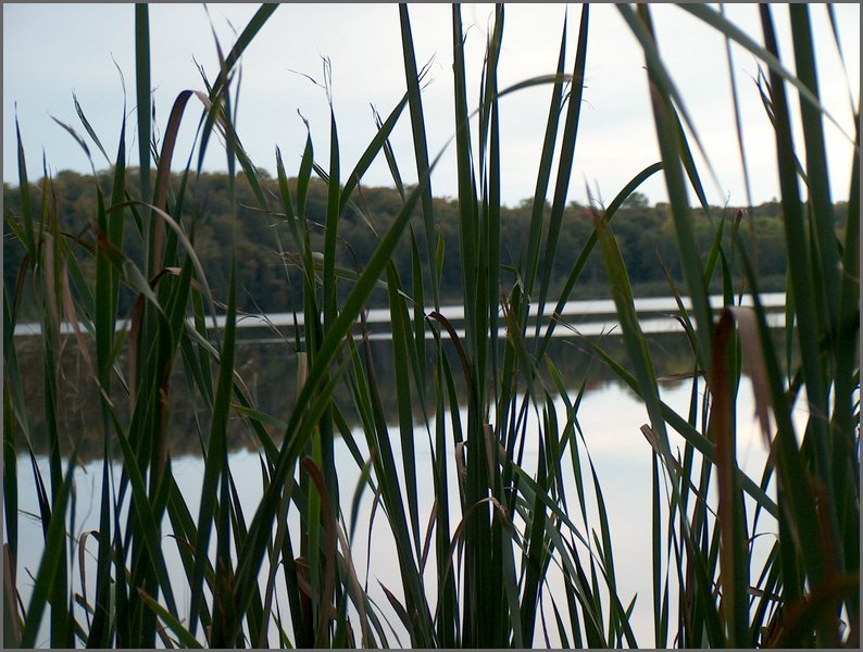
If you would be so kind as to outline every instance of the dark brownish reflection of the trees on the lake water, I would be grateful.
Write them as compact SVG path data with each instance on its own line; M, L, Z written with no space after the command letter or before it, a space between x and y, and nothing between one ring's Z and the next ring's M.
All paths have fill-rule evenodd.
M781 334L777 331L777 336ZM593 338L608 353L622 364L626 364L624 344L620 337ZM693 358L686 339L680 334L651 334L648 336L654 360L661 364L656 369L660 377L675 379L691 374ZM501 340L501 347L503 342ZM15 340L21 368L37 369L41 365L41 349L36 337L21 337ZM429 349L430 351L430 349ZM92 354L92 352L91 352ZM455 360L454 350L447 354ZM611 369L597 359L591 347L583 339L560 337L549 346L548 354L554 361L564 383L577 390L585 383L588 390L603 387L610 383L618 384ZM372 356L375 378L379 385L382 406L387 419L396 424L398 406L396 402L395 372L392 352L388 341L372 342ZM86 462L102 455L103 434L99 415L98 388L88 377L76 341L67 337L61 356L62 397L61 427L64 436L64 454L68 454L74 441L78 442L78 455ZM125 358L121 355L121 367ZM237 346L237 371L242 378L253 405L278 419L287 421L293 409L297 396L297 355L289 342L271 339L240 341ZM42 386L40 374L24 374L23 390L27 405L27 419L37 453L47 452L45 412L42 408ZM679 380L678 380L679 381ZM432 384L428 384L429 387ZM552 387L551 384L548 387ZM115 391L112 400L117 406L121 418L129 417L128 396ZM351 406L350 391L342 383L335 392L335 402L345 414L349 425L358 425L355 412ZM589 396L586 398L589 401ZM189 393L189 384L180 367L174 369L171 379L171 417L168 440L173 455L200 454L202 442L207 442L210 422L201 397ZM434 412L434 397L426 397L426 406ZM417 404L415 417L422 419L421 405ZM267 428L274 440L278 441L276 428ZM23 442L22 442L23 443ZM232 450L254 449L257 441L251 428L240 416L234 414L228 426L228 444ZM118 454L118 447L114 447Z

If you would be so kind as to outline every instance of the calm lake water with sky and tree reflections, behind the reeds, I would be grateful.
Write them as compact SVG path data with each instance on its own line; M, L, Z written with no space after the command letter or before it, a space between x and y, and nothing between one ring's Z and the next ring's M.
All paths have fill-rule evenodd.
M784 299L784 297L783 297ZM604 302L609 303L609 302ZM613 324L606 324L603 321L597 322L597 315L602 315L613 306L609 303L605 305L603 302L577 302L571 305L568 310L571 323L578 323L580 330L597 333L606 333ZM780 305L777 297L771 297L770 303L772 305ZM651 336L653 339L651 346L654 347L654 353L660 352L656 356L658 363L664 365L665 368L658 369L660 374L673 375L679 374L691 369L691 355L681 347L681 337L679 335L679 325L668 316L668 312L674 309L673 304L668 304L667 300L646 300L639 305L639 310L646 313L652 313L649 317L652 321L646 322L648 330L655 330L658 335ZM379 315L373 311L370 315L372 321L383 319L383 313ZM458 315L450 315L452 318L458 318ZM584 323L578 319L588 319ZM265 412L279 415L285 418L289 414L291 408L292 397L296 396L293 368L296 364L296 356L286 346L285 341L278 342L271 337L264 343L260 338L253 335L254 324L247 324L252 326L251 329L241 331L240 339L243 335L247 341L239 344L237 360L240 374L247 381L252 396L259 406ZM677 333L670 335L670 329L676 329ZM565 328L559 328L559 335L572 331ZM587 334L587 333L585 333ZM663 335L664 334L664 335ZM27 343L36 341L37 338L16 338L16 346L23 341L22 348L18 351L20 360L22 359L22 351L26 353ZM621 338L606 338L603 340L603 346L606 346L610 351L622 351ZM388 350L386 342L375 343L375 365L377 377L380 379L382 398L386 401L389 397L391 400L395 397L395 388L387 387L386 383L391 378L391 354L387 356ZM651 449L639 428L642 424L648 423L647 412L641 401L626 387L613 380L613 376L601 364L590 364L589 358L586 353L587 348L577 340L564 340L560 338L552 344L550 354L552 360L559 366L564 378L571 387L580 385L581 378L585 374L589 374L591 383L588 384L585 397L578 411L578 424L584 435L584 442L586 447L581 447L581 465L585 473L589 473L589 464L587 453L590 455L599 480L601 484L605 507L609 512L611 537L613 542L615 572L617 576L617 586L620 594L624 603L628 603L633 597L637 595L636 607L633 616L633 627L637 640L642 647L650 647L654 644L652 635L652 586L651 586ZM378 354L379 353L379 354ZM286 369L288 369L286 372ZM70 375L74 376L70 366ZM25 378L25 386L27 385ZM34 379L29 379L34 381ZM38 378L35 379L38 381ZM182 380L172 380L174 385L172 388L183 387L185 385ZM182 383L184 385L182 385ZM38 385L38 383L37 383ZM678 383L663 383L662 384L663 400L668 403L676 411L686 414L690 401L691 381ZM703 383L701 384L703 387ZM88 415L86 410L88 405L98 404L96 397L89 398L84 393L75 394L74 392L83 392L80 386L74 381L70 383L70 391L73 396L67 401L70 414L73 418L74 427L79 431L88 432L93 423L91 415ZM25 390L27 388L25 387ZM38 394L38 387L33 390ZM172 469L174 476L183 491L184 497L192 514L197 514L200 502L200 485L203 478L203 461L200 454L195 454L195 451L200 450L197 435L193 427L195 415L195 401L189 398L179 397L177 393L172 393ZM337 397L338 398L338 397ZM36 408L32 411L38 416L38 396L34 397ZM802 405L802 401L798 401ZM565 406L562 400L558 400L556 406L559 410L559 422L565 423ZM395 402L391 406L384 405L385 410L388 408L393 410L393 416L389 417L391 423L396 423L395 418ZM434 410L433 410L434 412ZM753 419L753 401L751 387L748 380L743 380L740 385L739 400L738 400L738 453L739 464L745 471L748 471L753 477L759 478L763 468L765 460L765 448L758 432L756 424ZM805 418L804 414L799 414L800 423ZM534 417L535 418L535 417ZM700 418L700 417L699 417ZM77 419L77 421L75 421ZM235 429L242 430L241 423L237 421ZM434 424L428 424L434 432ZM38 428L37 428L38 429ZM390 427L391 438L390 441L393 446L393 453L397 460L401 457L400 450L400 436L397 425ZM357 430L355 440L360 446L363 454L367 451L364 449L364 437L362 432ZM185 435L185 438L184 438ZM683 441L675 432L671 431L673 446L681 446ZM87 434L87 437L90 437ZM415 446L416 446L416 469L417 479L416 486L420 488L420 509L421 509L421 527L425 528L428 523L428 517L433 507L435 496L433 493L434 482L432 479L432 455L428 448L428 435L426 426L420 425L415 429ZM239 435L233 437L234 450L229 454L229 465L237 484L237 490L242 504L243 513L247 521L251 518L254 510L258 506L262 496L262 481L261 481L261 466L259 453L254 450L253 442L248 435ZM452 442L448 443L450 449ZM537 463L537 447L538 441L534 442L530 448L528 442L525 451L526 459L524 467L526 471L531 472L536 468ZM75 474L75 499L76 499L76 522L73 524L74 541L77 542L83 532L96 529L98 527L99 517L99 497L101 491L101 477L102 477L102 461L98 459L101 454L101 434L98 429L92 432L92 446L85 447L84 465L76 471ZM452 460L453 451L448 450L447 454ZM359 468L349 453L347 446L340 439L336 440L336 455L339 468L339 485L341 493L341 504L346 518L350 518L351 501L358 488L360 478ZM568 454L566 455L568 460ZM48 477L48 461L43 455L38 456L38 464L42 469L43 477ZM18 544L18 567L17 578L18 588L24 599L25 605L28 603L29 594L33 588L32 575L35 575L38 569L38 563L41 554L42 534L41 524L38 519L38 503L36 499L35 484L33 481L33 471L30 468L29 460L20 455L18 461L18 501L20 501L20 544ZM115 482L118 481L121 466L117 463L113 465ZM452 471L452 466L450 467ZM575 510L577 505L577 496L575 493L575 480L571 464L564 467L564 479L566 481L566 491L568 504ZM454 474L450 477L450 496L458 497L458 487L455 486ZM589 528L596 529L599 534L599 519L595 511L596 500L592 491L592 484L588 480L586 484L588 513L590 515ZM423 492L423 490L425 490ZM715 497L712 497L715 500ZM456 500L456 499L455 499ZM455 527L459 523L459 507L453 500L451 505L451 527ZM126 499L128 503L128 498ZM385 615L390 619L393 626L397 626L398 619L395 614L389 610L388 602L380 590L378 582L385 585L397 597L401 598L401 581L398 575L398 565L393 564L392 560L396 556L396 549L392 537L389 534L388 525L380 511L377 512L375 521L371 524L370 518L372 510L372 497L366 491L363 493L360 502L359 516L355 523L355 531L351 540L351 552L353 562L358 570L360 581L370 588L373 599L378 605L386 606ZM577 511L576 511L577 512ZM299 523L296 510L291 511L289 517L289 527L295 536L299 532ZM579 532L586 539L591 539L592 536L589 531L584 531L584 524L581 523L580 515L573 513L570 515L571 519L579 527ZM343 524L346 530L350 531L354 525L352 523ZM371 531L370 531L371 529ZM167 518L163 522L162 541L168 567L174 577L177 578L175 588L175 598L178 602L180 613L187 612L190 602L190 595L184 578L182 566L179 564L179 556L176 552L176 543L170 535L170 524ZM767 537L762 537L767 539ZM213 548L215 540L212 541ZM768 541L765 541L765 546ZM91 600L95 594L95 579L96 579L96 541L88 539L87 554L85 555L85 569L87 578L87 593ZM370 554L371 551L371 554ZM579 554L588 554L586 549L580 549ZM73 574L75 577L74 586L77 591L79 587L79 568L77 565L77 551L73 555L75 560L75 567ZM434 599L434 581L435 581L435 561L434 554L429 555L429 561L425 569L428 585L426 587L429 597ZM283 611L283 618L289 619L287 610L287 600L284 598L284 582L282 574L277 574L276 586L279 587L282 598L279 599L279 606ZM266 581L266 576L262 574L262 586ZM558 595L562 593L562 578L555 575L552 570L550 576L550 588ZM550 605L547 605L550 609ZM84 622L83 612L78 617ZM553 623L553 615L551 612L547 613L547 617ZM674 615L672 614L672 617ZM47 618L43 618L43 637L38 641L38 644L48 644L48 629ZM396 640L389 637L391 645L405 647L410 644L410 639L404 636L403 631L400 632L400 639ZM549 632L549 642L551 645L558 644L560 641L556 635ZM275 644L278 638L276 636L275 626L271 631L271 644ZM545 639L540 628L537 629L535 645L543 645Z

